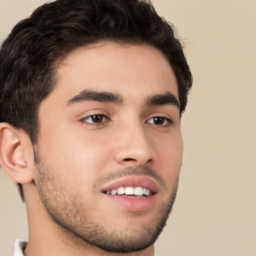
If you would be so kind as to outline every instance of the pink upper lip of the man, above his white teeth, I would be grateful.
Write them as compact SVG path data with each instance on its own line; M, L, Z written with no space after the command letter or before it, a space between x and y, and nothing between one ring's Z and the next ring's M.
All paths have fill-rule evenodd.
M111 191L112 189L118 188L120 186L141 186L149 188L152 193L156 193L159 188L158 184L149 176L130 175L108 182L101 187L101 192Z

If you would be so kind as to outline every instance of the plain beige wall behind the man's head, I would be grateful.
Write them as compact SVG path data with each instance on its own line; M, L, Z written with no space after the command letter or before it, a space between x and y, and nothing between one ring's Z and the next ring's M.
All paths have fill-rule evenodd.
M0 0L0 41L42 2ZM177 200L156 253L256 256L256 1L153 3L185 38L194 77ZM27 238L25 206L0 171L0 256L16 238Z

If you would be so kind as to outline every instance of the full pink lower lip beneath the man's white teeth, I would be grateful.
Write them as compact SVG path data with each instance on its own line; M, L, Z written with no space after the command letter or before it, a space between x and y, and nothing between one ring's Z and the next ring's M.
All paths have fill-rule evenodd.
M126 197L122 195L109 195L103 193L103 195L111 200L115 204L119 204L125 209L131 211L140 211L152 207L156 200L156 195L152 194L145 197Z

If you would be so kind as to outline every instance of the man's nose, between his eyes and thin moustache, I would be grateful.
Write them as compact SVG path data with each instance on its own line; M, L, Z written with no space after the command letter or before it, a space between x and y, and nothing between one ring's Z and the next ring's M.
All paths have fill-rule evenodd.
M116 162L126 166L142 167L156 159L152 141L143 129L143 124L129 123L118 132L114 157Z

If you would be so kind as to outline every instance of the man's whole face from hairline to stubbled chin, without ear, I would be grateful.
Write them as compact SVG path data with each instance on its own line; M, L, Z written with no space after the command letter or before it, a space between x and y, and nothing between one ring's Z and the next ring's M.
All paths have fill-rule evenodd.
M72 51L39 121L34 182L51 218L107 251L151 245L182 158L177 83L163 54L113 42Z

